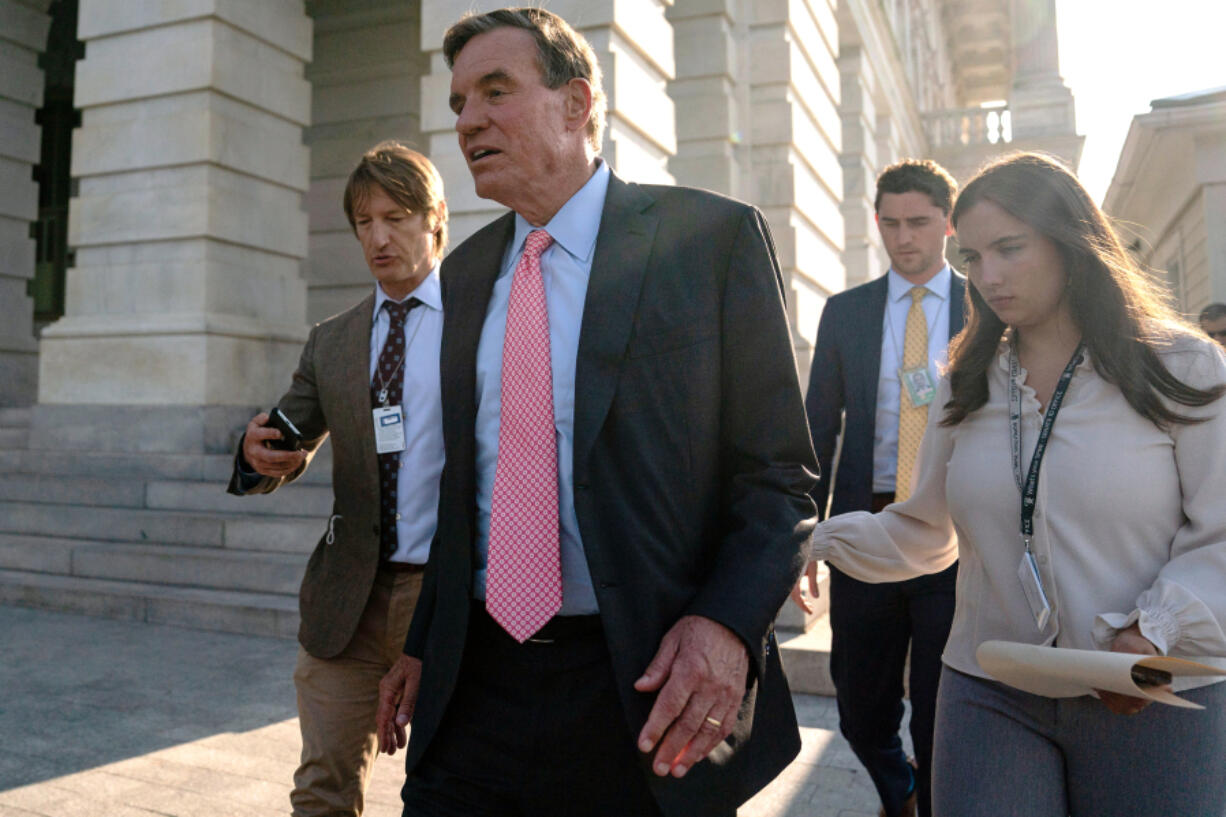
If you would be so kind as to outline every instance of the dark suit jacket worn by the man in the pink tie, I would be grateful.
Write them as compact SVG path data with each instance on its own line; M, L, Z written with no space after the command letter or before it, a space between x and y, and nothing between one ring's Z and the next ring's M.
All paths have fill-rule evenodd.
M409 769L460 671L477 343L514 223L494 221L443 264L446 466L405 648L423 659ZM630 734L655 700L634 680L680 617L721 622L749 649L750 688L732 737L682 780L650 775L667 815L739 804L799 750L771 624L813 526L815 467L782 278L755 209L609 180L579 340L574 458L579 527Z

